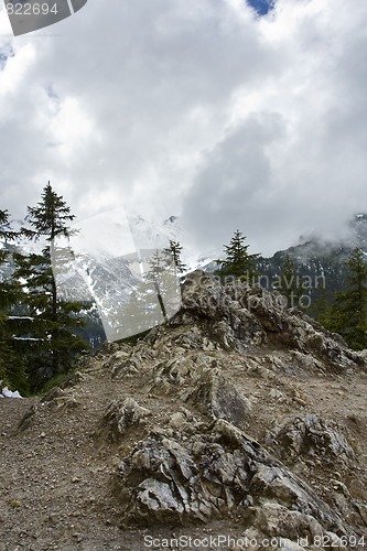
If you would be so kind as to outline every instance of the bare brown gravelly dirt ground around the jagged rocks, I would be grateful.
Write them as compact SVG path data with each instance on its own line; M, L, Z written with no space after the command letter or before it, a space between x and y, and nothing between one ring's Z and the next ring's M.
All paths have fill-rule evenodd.
M177 402L147 395L140 376L114 379L102 367L105 359L91 360L76 385L52 402L0 400L0 551L148 549L143 544L147 531L118 528L119 510L109 486L118 460L114 443L96 439L96 431L106 407L122 396L148 407L152 422L169 419ZM261 444L269 430L288 417L315 413L337 423L366 464L366 374L292 377L270 370L244 371L239 364L226 375L252 403L256 422L249 423L247 432ZM17 430L32 407L35 413L23 421L24 430ZM190 532L166 527L149 533L203 537L224 531L241 533L240 528L220 522Z

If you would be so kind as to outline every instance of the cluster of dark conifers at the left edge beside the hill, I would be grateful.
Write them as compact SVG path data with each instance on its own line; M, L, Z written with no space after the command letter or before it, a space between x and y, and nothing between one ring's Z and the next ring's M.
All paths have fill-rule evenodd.
M74 215L48 183L19 231L12 231L7 210L0 216L0 262L7 268L0 282L0 379L26 395L68 372L89 348L80 336L86 305L58 295L51 261L54 240L71 236ZM19 239L41 245L25 253L13 245Z

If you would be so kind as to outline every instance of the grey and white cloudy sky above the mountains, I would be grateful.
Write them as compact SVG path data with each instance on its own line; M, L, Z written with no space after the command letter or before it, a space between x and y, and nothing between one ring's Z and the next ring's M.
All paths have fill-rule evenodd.
M13 37L1 3L0 208L50 180L79 219L177 215L203 252L343 231L367 210L367 2L257 4L88 0Z

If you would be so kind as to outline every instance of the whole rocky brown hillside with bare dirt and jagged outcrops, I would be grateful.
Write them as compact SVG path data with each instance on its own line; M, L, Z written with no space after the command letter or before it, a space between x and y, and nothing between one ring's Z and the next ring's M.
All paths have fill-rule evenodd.
M361 550L366 396L365 353L194 272L170 326L0 400L0 550Z

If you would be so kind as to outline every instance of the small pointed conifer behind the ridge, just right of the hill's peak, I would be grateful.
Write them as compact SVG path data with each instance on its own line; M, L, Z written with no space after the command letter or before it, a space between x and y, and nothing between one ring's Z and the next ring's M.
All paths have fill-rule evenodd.
M217 260L220 269L216 274L222 278L234 277L240 281L253 283L259 272L256 271L256 259L259 255L249 255L245 245L246 237L238 229L235 231L229 245L225 245L225 260Z

